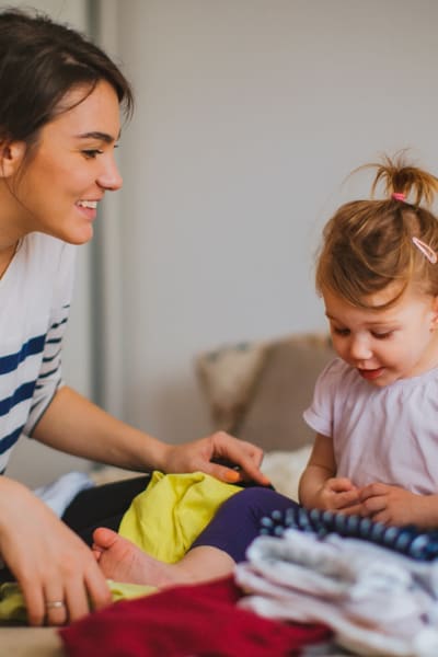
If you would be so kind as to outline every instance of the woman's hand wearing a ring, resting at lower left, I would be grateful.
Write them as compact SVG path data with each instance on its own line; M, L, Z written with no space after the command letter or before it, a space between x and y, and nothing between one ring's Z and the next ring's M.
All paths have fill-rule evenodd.
M22 484L0 479L0 554L21 587L30 625L64 625L108 604L92 551Z

